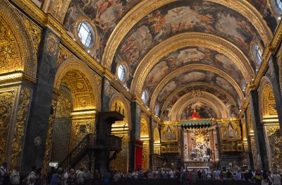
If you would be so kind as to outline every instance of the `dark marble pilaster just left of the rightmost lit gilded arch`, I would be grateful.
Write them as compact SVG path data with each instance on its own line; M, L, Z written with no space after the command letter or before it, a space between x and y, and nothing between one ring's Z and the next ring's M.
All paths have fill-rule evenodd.
M262 162L262 169L267 169L269 161L267 158L264 128L259 117L259 95L257 90L252 90L250 95L252 100L252 120L254 122L255 141L257 145L257 150L259 151L257 155L259 155L259 158Z

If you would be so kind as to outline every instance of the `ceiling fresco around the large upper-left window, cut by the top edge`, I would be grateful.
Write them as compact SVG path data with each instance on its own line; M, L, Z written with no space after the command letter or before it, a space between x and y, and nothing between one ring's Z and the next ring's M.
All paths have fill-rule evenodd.
M94 52L94 59L101 61L104 46L111 31L121 18L140 0L72 0L63 21L63 25L73 32L75 21L88 17L93 20L99 34L99 46Z

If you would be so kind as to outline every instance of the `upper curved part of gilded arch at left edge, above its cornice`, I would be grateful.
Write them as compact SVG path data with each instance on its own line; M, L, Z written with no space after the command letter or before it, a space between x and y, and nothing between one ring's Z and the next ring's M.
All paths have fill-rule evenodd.
M0 1L0 7L0 50L6 50L0 55L0 73L23 71L36 78L37 54L20 14L8 1Z

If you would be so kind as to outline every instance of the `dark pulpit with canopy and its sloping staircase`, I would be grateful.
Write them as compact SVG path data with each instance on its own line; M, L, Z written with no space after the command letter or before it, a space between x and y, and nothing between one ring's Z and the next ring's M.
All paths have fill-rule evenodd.
M99 112L97 116L97 133L87 134L59 164L59 167L66 167L68 165L75 167L88 155L89 169L91 169L93 156L95 157L95 163L99 160L99 157L106 156L106 159L103 157L105 164L100 164L101 162L99 162L97 166L100 167L104 165L106 168L109 168L109 162L112 158L109 157L110 152L114 151L114 156L116 156L116 153L121 151L121 138L111 135L111 125L114 124L115 121L123 121L123 114L112 111Z

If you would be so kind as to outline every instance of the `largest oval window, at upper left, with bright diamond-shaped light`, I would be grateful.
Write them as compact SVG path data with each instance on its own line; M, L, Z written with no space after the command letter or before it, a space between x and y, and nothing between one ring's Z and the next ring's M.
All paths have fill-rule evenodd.
M93 36L94 32L88 23L82 22L78 25L78 37L83 45L90 47Z

